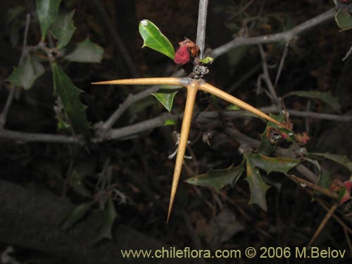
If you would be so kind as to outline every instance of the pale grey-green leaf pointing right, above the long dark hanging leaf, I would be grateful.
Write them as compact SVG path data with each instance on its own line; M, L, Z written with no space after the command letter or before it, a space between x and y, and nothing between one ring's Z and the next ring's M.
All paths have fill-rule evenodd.
M65 49L65 59L78 63L100 63L103 59L104 50L89 39L85 39L75 46L73 51Z

